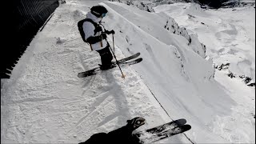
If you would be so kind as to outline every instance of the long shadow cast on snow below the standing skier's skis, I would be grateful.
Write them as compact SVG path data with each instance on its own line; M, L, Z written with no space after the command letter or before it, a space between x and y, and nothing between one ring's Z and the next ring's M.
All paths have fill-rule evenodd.
M118 107L118 111L115 111L113 114L110 114L104 120L100 123L98 123L98 127L106 124L107 122L110 122L114 118L118 118L118 125L123 126L124 122L126 122L127 119L131 118L129 108L127 105L126 96L122 91L122 87L118 84L118 82L115 81L114 75L112 72L107 72L104 74L106 78L106 82L110 83L110 87L113 87L113 89L110 90L110 94L114 98L115 105Z

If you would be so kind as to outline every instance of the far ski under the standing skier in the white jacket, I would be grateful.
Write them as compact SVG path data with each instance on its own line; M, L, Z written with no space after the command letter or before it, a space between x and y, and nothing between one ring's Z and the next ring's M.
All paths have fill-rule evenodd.
M140 55L140 53L136 53L136 54L131 55L130 57L122 58L122 59L118 60L118 63L126 62L126 61L129 61L131 59L137 58L139 55ZM112 64L115 65L115 64L117 64L117 62L112 62ZM78 74L78 78L84 78L85 74L86 75L87 74L93 75L94 71L98 70L99 68L100 68L100 66L97 66L97 67L94 67L91 70L87 70L87 71L81 72L81 73ZM90 76L90 75L88 75L88 76Z

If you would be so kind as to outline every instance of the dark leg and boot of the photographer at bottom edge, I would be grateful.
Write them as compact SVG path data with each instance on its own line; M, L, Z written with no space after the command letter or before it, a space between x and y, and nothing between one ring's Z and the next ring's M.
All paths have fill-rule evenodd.
M139 139L133 136L132 132L139 126L145 124L145 119L142 117L136 117L131 120L127 120L126 126L122 126L117 130L110 131L109 133L98 133L92 135L86 142L79 144L91 144L91 143L135 143L140 144Z

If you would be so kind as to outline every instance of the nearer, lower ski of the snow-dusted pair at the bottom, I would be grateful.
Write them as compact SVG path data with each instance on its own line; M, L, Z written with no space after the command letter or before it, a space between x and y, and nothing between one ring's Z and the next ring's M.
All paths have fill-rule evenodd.
M158 134L151 134L151 133L141 134L140 137L138 138L141 143L152 143L152 142L157 142L164 138L169 138L176 134L181 134L190 129L191 129L190 125L177 126L177 127L174 127L173 129L165 130Z

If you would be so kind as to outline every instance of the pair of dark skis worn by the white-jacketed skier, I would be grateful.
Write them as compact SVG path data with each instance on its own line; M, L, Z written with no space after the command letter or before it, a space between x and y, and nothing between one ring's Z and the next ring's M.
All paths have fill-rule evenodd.
M122 58L122 59L118 60L118 63L112 62L110 69L116 67L118 64L119 64L119 66L122 67L122 66L130 66L130 65L134 65L138 62L142 62L142 58L138 58L139 55L140 55L140 53L136 53L136 54L131 55L130 57ZM134 58L137 58L137 59L134 59ZM134 59L134 60L132 60L132 59ZM132 61L129 61L129 60L132 60ZM129 62L127 62L127 61L129 61ZM91 76L94 74L98 74L99 71L101 71L100 66L97 66L92 70L87 70L87 71L79 73L78 78L85 78L85 77L88 77L88 76Z

